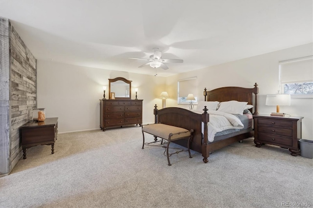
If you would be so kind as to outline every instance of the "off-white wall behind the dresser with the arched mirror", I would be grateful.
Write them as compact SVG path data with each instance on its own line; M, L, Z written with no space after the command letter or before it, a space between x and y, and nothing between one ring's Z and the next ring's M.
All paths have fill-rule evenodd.
M45 108L46 117L59 118L59 132L100 129L99 99L108 79L133 81L132 99L134 88L138 88L137 98L143 99L143 123L154 122L154 105L161 106L159 95L165 90L165 78L153 76L153 70L149 76L45 61L38 61L37 68L38 107Z

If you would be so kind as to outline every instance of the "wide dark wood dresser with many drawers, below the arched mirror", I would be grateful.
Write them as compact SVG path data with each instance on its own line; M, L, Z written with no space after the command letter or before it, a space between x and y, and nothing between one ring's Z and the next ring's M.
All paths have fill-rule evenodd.
M142 124L142 100L100 100L100 128Z

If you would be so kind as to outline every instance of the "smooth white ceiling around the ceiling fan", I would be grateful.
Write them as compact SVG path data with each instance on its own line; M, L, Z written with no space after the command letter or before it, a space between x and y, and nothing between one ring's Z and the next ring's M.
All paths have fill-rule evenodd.
M38 60L169 76L313 42L313 0L0 0Z

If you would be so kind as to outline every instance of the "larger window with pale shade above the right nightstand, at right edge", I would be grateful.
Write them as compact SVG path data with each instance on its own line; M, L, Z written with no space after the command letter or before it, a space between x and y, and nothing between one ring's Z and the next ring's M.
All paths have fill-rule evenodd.
M279 75L282 93L313 97L313 56L279 62Z

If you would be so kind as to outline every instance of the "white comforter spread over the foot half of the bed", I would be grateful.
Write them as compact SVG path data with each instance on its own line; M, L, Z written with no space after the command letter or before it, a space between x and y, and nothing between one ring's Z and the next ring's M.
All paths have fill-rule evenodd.
M194 111L195 112L195 111ZM200 112L197 112L201 114ZM207 123L207 139L209 142L214 141L214 135L226 129L241 129L244 128L243 123L239 118L230 114L224 113L222 111L208 110L207 113L210 115L209 122ZM202 123L202 133L204 132L204 127Z

